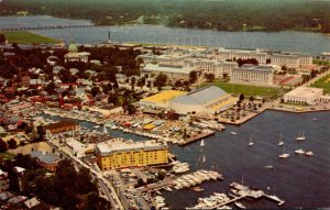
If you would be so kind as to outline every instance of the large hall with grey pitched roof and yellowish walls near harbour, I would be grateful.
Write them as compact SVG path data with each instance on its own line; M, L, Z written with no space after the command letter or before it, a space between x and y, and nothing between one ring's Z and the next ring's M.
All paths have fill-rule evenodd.
M186 96L179 96L169 101L169 108L179 114L209 113L216 114L234 106L238 98L210 86L194 90Z

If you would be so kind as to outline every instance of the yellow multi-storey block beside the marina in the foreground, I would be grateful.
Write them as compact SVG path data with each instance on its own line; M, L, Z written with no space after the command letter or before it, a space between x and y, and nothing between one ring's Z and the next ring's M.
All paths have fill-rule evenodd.
M168 147L156 141L108 141L96 146L96 156L101 170L161 165L168 163Z

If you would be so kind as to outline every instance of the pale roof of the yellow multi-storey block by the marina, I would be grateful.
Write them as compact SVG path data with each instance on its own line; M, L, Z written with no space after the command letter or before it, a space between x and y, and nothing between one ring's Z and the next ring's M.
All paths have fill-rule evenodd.
M107 141L99 143L96 146L97 153L101 155L110 155L116 152L125 151L156 151L167 148L165 144L156 141L141 141L141 142L123 142L123 141Z

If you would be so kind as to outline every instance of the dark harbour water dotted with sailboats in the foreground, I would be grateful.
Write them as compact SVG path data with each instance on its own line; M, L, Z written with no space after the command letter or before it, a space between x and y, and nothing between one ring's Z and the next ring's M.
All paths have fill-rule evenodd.
M317 118L317 121L312 119ZM53 117L53 119L59 119ZM196 169L220 172L223 181L207 181L201 185L202 192L193 190L174 190L164 192L166 203L174 209L195 206L199 197L208 197L212 192L227 192L232 181L255 186L267 194L275 194L286 201L285 208L330 207L330 112L285 113L266 111L241 126L227 125L224 132L200 142L182 146L173 146L172 152L182 162ZM95 124L79 121L82 126L91 129ZM101 131L102 128L99 129ZM146 140L135 134L110 131L118 137L136 141ZM238 135L230 135L230 132ZM306 141L296 141L299 132L305 132ZM277 145L279 135L285 145ZM250 135L254 145L248 146ZM297 155L295 150L312 151L315 156ZM289 153L286 159L278 158L282 153ZM207 162L201 165L200 157ZM273 169L264 166L273 165ZM267 187L271 189L267 190ZM277 208L274 202L261 199L244 202L249 208Z

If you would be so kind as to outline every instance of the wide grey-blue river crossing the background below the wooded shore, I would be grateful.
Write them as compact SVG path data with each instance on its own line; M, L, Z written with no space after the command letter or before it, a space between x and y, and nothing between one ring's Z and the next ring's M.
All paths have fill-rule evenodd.
M68 20L52 16L1 16L1 27L77 25L90 24L87 20ZM311 32L222 32L198 29L177 29L162 25L128 25L105 27L80 27L41 30L35 33L64 38L74 38L81 44L108 41L108 32L114 42L143 42L178 45L204 45L228 48L267 48L304 52L318 55L330 51L330 36Z

